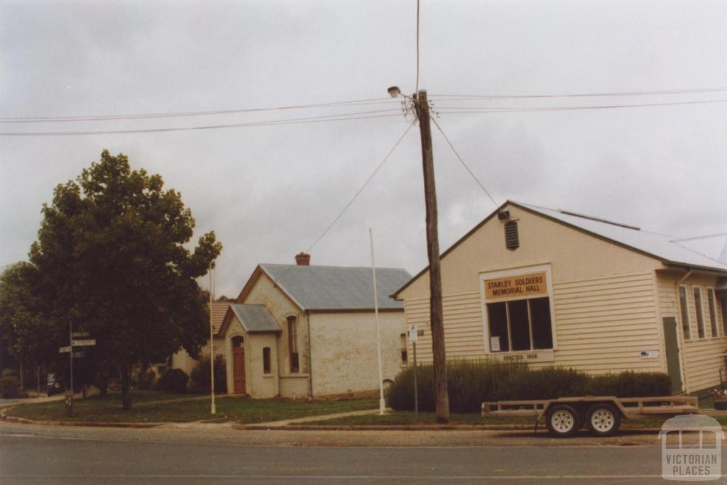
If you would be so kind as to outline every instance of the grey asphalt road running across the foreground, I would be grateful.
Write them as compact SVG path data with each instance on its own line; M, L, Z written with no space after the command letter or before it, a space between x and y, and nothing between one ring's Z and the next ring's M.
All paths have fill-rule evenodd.
M328 441L316 441L310 434L303 438L284 431L272 431L266 439L288 444L251 441L251 436L260 440L265 433L221 427L119 430L5 423L0 425L0 483L664 483L661 449L653 441L593 446L559 440L553 446L523 434L506 437L506 446L377 446L375 440L373 446L294 446L330 443L335 433L321 434ZM423 436L405 434L416 439L417 433ZM454 437L442 435L449 444ZM485 443L497 442L497 436L483 437Z

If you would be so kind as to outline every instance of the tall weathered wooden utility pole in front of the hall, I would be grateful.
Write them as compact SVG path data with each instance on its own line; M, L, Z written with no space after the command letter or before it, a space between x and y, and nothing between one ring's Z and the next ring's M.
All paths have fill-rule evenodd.
M438 423L449 422L446 353L442 317L442 280L439 268L439 235L437 223L437 192L434 184L432 130L427 91L419 90L414 103L422 134L422 165L424 167L424 199L427 209L427 255L429 256L429 306L434 357L435 412Z

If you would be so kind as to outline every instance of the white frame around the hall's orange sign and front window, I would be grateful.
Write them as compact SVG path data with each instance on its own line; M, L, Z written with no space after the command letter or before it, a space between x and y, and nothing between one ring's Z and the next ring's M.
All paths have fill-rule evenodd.
M505 278L519 276L521 274L545 273L545 284L547 285L547 293L543 295L526 295L517 296L515 298L497 298L496 300L487 301L487 293L485 291L485 280L494 280L496 278ZM504 303L515 300L532 300L534 298L548 298L548 306L550 306L550 333L553 338L552 349L535 349L535 350L516 350L516 351L490 351L490 325L489 315L487 313L487 303ZM516 268L501 269L498 271L480 273L480 299L482 303L482 331L484 335L484 350L486 355L510 355L523 354L532 352L555 351L558 349L558 340L555 338L555 306L553 304L553 277L551 275L550 264L539 264L537 266L518 266ZM510 327L508 326L508 332Z

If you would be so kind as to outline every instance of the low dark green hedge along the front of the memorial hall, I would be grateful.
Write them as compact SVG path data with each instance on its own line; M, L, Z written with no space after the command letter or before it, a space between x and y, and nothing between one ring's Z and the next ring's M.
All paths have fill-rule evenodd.
M451 412L480 412L483 402L521 399L557 399L572 396L646 397L669 396L671 380L665 374L622 372L587 375L571 368L529 369L524 364L486 361L447 363ZM417 368L419 409L433 411L434 371L431 365ZM387 392L396 410L414 409L414 370L403 370Z

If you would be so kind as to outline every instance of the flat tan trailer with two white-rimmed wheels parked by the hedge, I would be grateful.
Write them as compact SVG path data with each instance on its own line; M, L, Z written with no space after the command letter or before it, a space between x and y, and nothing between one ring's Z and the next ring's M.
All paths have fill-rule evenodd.
M533 416L535 430L542 417L554 436L573 436L584 425L596 436L619 430L622 419L664 419L696 414L699 405L692 396L616 397L582 396L533 401L483 402L483 416Z

